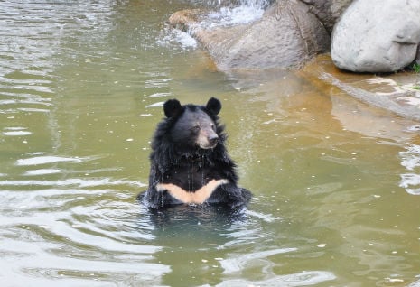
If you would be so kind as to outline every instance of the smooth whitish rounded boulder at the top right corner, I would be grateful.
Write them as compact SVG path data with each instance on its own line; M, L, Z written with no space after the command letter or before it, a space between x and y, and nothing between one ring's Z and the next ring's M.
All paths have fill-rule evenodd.
M420 1L354 1L331 37L331 57L341 69L391 72L415 60L420 42Z

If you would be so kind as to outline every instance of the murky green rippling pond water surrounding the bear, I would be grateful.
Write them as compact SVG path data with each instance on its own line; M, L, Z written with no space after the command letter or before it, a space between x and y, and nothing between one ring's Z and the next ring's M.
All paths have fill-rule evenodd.
M406 286L420 279L416 123L301 72L226 75L163 22L183 1L0 2L2 286ZM219 97L242 215L151 214L172 97Z

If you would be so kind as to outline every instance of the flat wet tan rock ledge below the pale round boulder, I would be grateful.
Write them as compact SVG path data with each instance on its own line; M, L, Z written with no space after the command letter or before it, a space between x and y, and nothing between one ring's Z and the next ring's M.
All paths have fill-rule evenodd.
M350 73L337 69L327 54L316 57L300 72L317 85L321 79L323 84L338 88L331 92L331 98L340 97L342 92L342 95L354 97L369 106L420 121L420 83L416 73L401 71L381 76Z

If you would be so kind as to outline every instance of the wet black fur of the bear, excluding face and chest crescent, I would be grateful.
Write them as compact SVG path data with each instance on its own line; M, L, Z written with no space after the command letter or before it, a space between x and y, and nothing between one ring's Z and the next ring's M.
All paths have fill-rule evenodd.
M166 208L182 202L174 199L167 191L157 191L155 187L158 183L173 183L184 190L198 190L210 180L226 179L229 183L220 185L205 203L225 204L229 207L245 205L251 193L237 185L236 164L227 153L227 135L217 116L221 108L219 100L211 98L206 106L179 105L177 100L165 103L164 112L167 117L157 125L152 142L149 188L139 198L149 208ZM214 122L219 144L212 149L201 149L199 146L174 143L171 131L178 120L187 110L196 112L199 109Z

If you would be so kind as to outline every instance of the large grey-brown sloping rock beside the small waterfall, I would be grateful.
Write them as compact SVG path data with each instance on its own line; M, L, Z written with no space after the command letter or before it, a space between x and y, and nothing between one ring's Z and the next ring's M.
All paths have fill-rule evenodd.
M330 46L322 23L298 0L279 1L259 21L229 28L201 27L196 11L183 15L170 23L191 31L220 70L300 67Z

